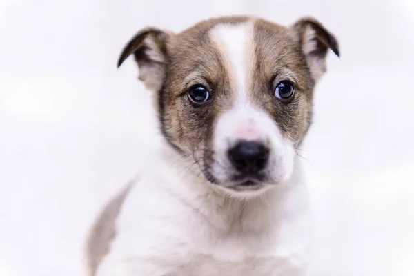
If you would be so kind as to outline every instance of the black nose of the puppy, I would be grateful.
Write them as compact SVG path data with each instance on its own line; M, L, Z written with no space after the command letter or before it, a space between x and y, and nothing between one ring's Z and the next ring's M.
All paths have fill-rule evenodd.
M268 162L269 150L257 141L241 141L228 150L228 159L239 172L255 174Z

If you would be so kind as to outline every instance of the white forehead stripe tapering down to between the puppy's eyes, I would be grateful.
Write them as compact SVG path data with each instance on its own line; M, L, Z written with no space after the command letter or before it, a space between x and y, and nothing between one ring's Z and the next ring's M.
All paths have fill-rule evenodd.
M210 31L210 37L219 48L230 78L231 92L236 103L246 103L250 72L254 62L253 22L237 25L220 24ZM230 91L228 91L230 92Z

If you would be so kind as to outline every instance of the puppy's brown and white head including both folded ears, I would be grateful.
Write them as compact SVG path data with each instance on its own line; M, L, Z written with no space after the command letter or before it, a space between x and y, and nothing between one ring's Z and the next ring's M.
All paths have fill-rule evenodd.
M142 30L119 65L135 55L139 79L156 92L164 136L211 184L257 194L293 172L328 48L339 55L315 19L284 27L224 17L179 34Z

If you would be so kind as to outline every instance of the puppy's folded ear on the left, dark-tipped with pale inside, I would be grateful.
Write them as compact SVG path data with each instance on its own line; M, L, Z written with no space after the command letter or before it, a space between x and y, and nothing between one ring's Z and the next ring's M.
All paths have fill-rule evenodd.
M171 33L146 28L135 34L119 57L118 67L132 54L138 63L139 79L150 90L159 90L166 70L166 43Z

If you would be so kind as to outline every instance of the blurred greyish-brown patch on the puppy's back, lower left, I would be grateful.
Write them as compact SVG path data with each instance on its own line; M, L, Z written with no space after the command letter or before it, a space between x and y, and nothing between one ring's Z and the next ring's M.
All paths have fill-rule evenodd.
M115 225L117 218L126 196L136 180L135 178L128 181L121 192L108 201L92 225L86 242L86 265L89 276L96 275L99 264L110 252L110 244L117 234Z

